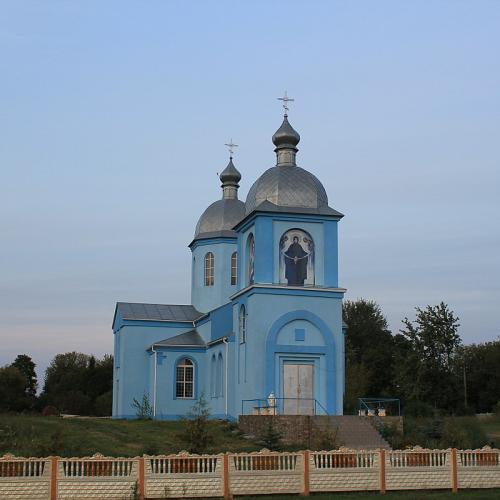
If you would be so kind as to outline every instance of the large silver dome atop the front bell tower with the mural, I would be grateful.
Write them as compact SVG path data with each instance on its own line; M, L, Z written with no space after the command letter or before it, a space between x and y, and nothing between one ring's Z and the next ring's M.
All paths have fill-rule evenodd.
M323 184L300 167L272 167L253 184L245 203L249 214L264 201L279 207L328 208L328 196Z

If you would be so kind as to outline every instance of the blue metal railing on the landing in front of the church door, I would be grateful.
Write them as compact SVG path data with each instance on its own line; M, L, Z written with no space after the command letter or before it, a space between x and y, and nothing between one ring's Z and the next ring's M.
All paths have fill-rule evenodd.
M328 415L326 408L315 398L244 399L242 415Z

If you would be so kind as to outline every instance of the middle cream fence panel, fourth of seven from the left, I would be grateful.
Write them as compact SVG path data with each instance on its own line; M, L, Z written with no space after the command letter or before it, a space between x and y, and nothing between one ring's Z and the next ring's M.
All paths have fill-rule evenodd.
M302 493L301 453L237 453L229 456L229 488L235 495Z

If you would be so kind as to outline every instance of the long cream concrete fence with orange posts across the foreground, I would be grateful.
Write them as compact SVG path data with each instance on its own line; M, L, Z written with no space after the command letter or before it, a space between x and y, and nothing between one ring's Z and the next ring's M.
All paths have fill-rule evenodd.
M0 458L0 498L145 499L500 488L500 450Z

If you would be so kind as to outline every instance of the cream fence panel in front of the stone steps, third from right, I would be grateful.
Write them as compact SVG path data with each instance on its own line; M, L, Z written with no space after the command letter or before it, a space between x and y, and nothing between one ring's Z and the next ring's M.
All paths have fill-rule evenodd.
M311 492L379 488L377 451L314 451L310 453L309 462Z

